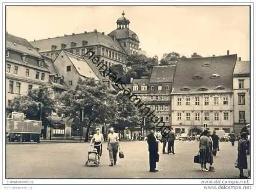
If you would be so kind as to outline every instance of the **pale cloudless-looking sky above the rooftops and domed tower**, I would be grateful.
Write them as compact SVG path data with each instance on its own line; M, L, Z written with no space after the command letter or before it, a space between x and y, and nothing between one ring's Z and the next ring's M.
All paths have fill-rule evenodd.
M111 33L116 20L130 20L148 57L175 51L190 57L249 60L249 6L7 6L6 30L29 41L83 33Z

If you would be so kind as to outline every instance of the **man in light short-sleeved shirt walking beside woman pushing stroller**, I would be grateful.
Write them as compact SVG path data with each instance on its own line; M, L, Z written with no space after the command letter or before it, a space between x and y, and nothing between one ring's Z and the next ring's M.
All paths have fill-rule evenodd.
M108 148L109 150L109 156L110 156L110 166L116 165L117 161L117 151L119 149L119 137L118 134L115 133L115 130L113 127L110 128L110 133L108 134Z

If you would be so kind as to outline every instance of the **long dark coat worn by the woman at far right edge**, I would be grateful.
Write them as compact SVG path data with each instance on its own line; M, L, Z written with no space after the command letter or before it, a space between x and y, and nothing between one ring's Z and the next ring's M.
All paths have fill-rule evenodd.
M247 141L240 139L238 142L238 168L247 169Z

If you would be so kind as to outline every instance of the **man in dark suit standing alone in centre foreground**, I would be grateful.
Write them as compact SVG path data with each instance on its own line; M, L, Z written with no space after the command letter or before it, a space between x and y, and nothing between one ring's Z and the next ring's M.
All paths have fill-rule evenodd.
M150 172L158 172L156 164L159 159L158 154L158 140L155 135L155 127L150 127L150 134L147 135L148 152L150 152Z

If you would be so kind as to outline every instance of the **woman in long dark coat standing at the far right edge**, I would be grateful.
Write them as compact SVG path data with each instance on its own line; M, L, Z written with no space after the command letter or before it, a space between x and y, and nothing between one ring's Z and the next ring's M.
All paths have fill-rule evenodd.
M241 133L241 139L238 142L238 168L240 171L240 178L247 178L244 176L243 169L247 169L247 142L246 142L247 133Z

